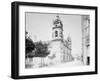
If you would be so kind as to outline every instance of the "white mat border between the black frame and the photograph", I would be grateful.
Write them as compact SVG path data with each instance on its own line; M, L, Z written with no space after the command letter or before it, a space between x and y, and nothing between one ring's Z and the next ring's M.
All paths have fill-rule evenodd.
M43 13L64 13L64 14L84 14L90 15L90 65L80 67L62 68L36 68L25 69L25 12L43 12ZM55 8L55 7L37 7L37 6L19 6L19 75L40 75L55 73L74 73L95 71L95 10Z

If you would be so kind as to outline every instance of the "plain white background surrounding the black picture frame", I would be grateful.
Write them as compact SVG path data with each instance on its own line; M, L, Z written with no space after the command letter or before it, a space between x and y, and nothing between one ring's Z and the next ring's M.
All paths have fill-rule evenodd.
M10 78L12 1L14 0L0 1L0 81L13 81L13 79ZM90 5L90 6L98 6L98 10L100 10L100 0L21 0L21 1L72 4L72 5ZM98 11L98 14L100 14L100 11ZM100 22L100 16L98 16L98 18ZM99 28L98 30L100 31ZM100 35L100 32L98 34ZM100 37L98 38L98 41L100 41ZM98 45L100 44L98 43ZM99 53L100 50L98 52L98 57L100 57ZM100 59L98 61L100 62ZM98 64L99 64L98 68L100 68L100 63ZM100 74L34 79L34 81L99 81L99 80L100 80ZM33 81L33 79L26 79L26 81Z

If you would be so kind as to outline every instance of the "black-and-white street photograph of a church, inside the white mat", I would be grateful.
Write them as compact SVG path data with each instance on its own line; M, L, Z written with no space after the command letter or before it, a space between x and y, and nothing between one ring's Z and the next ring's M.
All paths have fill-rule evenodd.
M90 16L25 13L25 68L90 64Z

